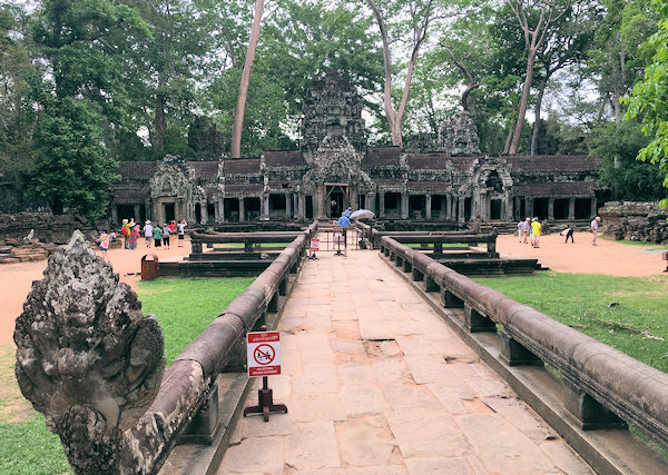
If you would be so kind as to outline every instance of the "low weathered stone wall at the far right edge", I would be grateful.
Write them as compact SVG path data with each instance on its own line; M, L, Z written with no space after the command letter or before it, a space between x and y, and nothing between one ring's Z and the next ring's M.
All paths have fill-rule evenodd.
M599 209L603 235L657 244L668 243L668 208L656 202L609 201Z

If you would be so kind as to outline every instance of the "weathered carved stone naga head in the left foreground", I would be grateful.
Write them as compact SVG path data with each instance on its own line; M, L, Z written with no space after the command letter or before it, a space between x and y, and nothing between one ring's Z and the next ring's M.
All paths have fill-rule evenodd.
M165 370L163 334L111 266L75 231L17 318L16 376L78 473L122 472L132 427ZM109 444L109 442L112 442Z

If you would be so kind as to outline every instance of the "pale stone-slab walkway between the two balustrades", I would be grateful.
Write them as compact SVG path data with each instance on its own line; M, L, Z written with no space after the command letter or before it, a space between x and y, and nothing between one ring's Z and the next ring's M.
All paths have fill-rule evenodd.
M219 474L592 473L377 251L318 256L278 326L289 412L242 418Z

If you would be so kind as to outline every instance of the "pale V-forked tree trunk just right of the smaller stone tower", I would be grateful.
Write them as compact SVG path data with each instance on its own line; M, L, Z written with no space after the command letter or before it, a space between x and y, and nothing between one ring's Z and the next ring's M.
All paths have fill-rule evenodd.
M518 119L512 130L512 138L508 144L508 149L504 150L508 154L517 154L520 148L524 117L527 116L527 108L529 106L536 57L543 43L550 38L554 22L559 21L570 11L572 0L507 0L507 2L514 13L520 30L524 36L527 52L527 71L518 107Z

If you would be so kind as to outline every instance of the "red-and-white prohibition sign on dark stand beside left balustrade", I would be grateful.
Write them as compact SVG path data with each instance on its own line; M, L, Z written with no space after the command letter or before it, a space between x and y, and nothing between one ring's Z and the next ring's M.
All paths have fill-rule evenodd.
M263 327L266 329L266 327ZM248 414L263 414L265 423L269 413L287 413L285 404L274 404L274 392L269 389L267 376L281 374L281 333L252 331L247 335L248 343L248 376L262 376L262 388L257 389L257 406L244 409Z

